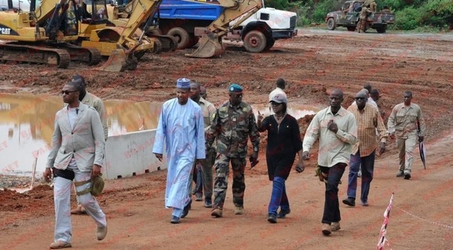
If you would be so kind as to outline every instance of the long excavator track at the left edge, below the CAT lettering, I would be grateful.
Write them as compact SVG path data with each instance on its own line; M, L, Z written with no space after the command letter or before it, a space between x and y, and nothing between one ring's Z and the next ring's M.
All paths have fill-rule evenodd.
M70 55L64 49L33 45L0 43L0 61L15 63L39 63L57 68L68 68Z

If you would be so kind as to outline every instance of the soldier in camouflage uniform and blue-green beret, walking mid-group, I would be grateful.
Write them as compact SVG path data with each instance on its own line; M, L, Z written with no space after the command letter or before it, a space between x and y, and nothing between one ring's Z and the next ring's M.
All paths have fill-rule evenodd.
M215 159L214 204L211 215L222 217L225 196L227 195L229 162L233 169L234 214L243 214L244 170L247 157L247 136L253 145L251 162L258 159L259 132L256 127L252 107L242 101L243 88L238 84L229 86L229 101L224 102L215 113L210 130L206 134L206 148L217 139Z

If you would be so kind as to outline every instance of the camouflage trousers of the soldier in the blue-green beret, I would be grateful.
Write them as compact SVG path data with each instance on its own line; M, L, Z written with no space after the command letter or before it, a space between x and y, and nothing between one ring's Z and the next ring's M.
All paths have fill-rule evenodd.
M218 154L215 158L215 183L213 208L223 208L227 196L229 162L233 169L233 203L235 207L243 207L245 177L244 170L247 163L245 158L231 158Z

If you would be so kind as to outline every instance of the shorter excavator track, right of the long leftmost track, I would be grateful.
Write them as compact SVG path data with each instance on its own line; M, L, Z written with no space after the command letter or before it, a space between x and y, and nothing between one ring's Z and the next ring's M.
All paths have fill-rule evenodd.
M66 50L71 58L71 61L80 61L88 65L97 65L102 60L100 51L95 48L85 48L70 43L64 42L60 44L53 44L52 47L62 48Z

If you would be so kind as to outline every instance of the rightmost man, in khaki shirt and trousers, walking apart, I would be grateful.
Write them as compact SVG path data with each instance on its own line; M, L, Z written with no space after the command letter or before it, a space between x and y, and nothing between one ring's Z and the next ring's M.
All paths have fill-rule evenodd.
M412 92L404 92L404 102L397 104L392 110L387 121L387 129L390 138L397 137L397 146L399 150L399 171L397 177L410 179L412 172L412 162L414 158L415 146L418 141L423 141L425 124L422 109L411 103Z

